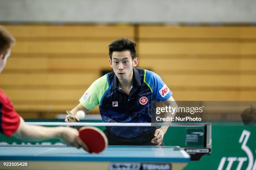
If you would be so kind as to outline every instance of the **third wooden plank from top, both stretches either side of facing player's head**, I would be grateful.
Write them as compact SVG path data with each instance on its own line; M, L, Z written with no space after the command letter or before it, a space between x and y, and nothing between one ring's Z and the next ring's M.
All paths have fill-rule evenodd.
M152 64L153 63L153 64ZM218 71L256 71L256 57L251 59L240 59L238 57L202 57L181 58L168 57L139 57L139 67L157 70L218 70ZM108 56L99 57L15 57L8 59L5 70L100 70L112 68L109 65Z

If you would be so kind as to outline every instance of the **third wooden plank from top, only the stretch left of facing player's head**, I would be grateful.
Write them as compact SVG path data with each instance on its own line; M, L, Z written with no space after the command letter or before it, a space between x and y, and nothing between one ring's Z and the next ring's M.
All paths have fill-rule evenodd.
M10 57L8 59L7 65L4 71L10 70L23 70L31 71L33 70L62 70L62 71L72 71L77 70L95 70L95 72L100 72L102 69L111 69L108 55L104 57Z

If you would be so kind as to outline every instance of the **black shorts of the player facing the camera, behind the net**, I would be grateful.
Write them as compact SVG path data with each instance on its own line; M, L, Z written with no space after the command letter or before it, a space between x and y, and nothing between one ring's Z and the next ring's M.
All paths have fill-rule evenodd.
M108 145L145 145L145 146L154 146L156 144L151 143L151 140L154 137L155 131L157 128L154 128L152 130L145 131L141 135L139 135L136 138L128 139L128 138L122 138L118 137L116 135L113 135L110 133L108 129L105 129L103 132L106 134L108 138ZM161 143L161 146L164 146L164 143Z

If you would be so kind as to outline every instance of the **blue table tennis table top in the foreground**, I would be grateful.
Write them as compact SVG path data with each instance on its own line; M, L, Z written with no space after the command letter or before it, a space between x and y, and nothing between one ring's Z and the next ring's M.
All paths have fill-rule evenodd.
M101 161L101 162L189 162L184 150L173 146L108 146L90 154L72 147L0 147L0 160Z

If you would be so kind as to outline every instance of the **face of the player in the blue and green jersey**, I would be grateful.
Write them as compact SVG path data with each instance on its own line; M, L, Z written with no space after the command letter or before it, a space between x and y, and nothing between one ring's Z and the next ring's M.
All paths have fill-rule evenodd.
M112 60L109 59L118 80L131 80L133 67L138 64L138 58L132 60L130 51L113 52Z

